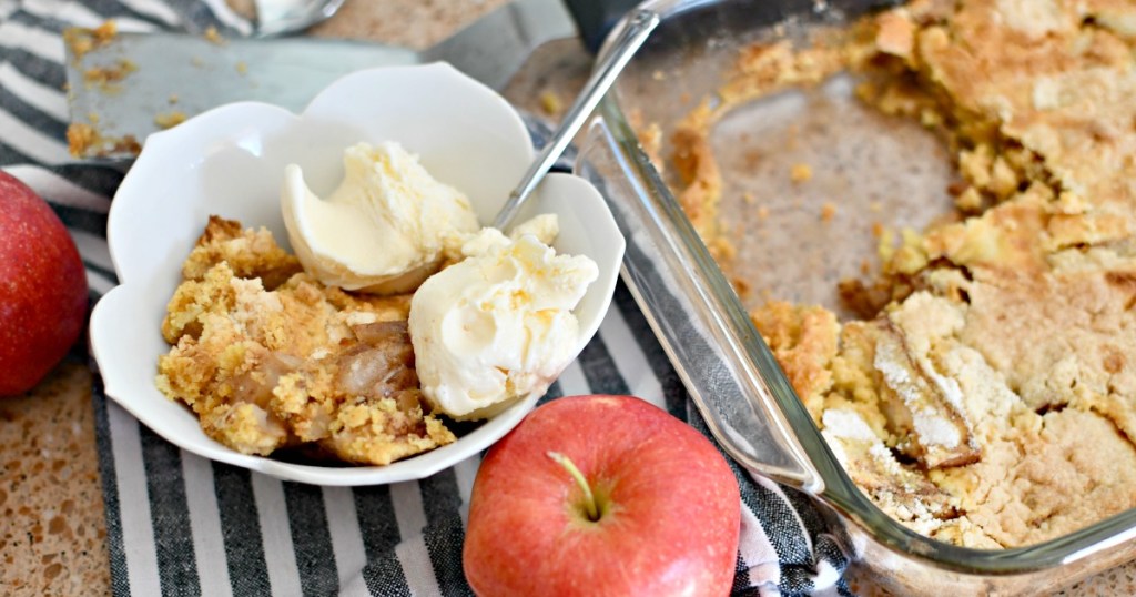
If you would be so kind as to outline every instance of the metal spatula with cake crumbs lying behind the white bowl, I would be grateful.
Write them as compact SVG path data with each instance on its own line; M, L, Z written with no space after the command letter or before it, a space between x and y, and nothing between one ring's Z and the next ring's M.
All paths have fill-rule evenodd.
M316 38L120 33L80 55L67 49L72 147L84 158L132 158L147 135L183 117L241 100L299 111L335 78L374 66L444 60L501 89L534 49L576 34L559 0L517 0L425 51ZM108 72L122 76L107 81Z

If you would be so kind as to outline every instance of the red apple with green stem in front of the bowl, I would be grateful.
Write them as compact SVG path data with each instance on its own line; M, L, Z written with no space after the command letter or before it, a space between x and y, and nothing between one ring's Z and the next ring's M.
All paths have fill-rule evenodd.
M701 433L638 398L560 398L486 454L463 566L478 595L726 595L740 529Z

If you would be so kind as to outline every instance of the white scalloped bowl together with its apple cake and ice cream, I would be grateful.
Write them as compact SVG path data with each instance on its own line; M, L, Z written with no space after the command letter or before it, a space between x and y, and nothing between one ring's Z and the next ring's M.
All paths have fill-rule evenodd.
M109 218L120 285L91 320L107 395L186 450L287 480L394 482L475 455L595 333L624 250L567 174L484 227L532 157L517 113L444 64L154 134Z

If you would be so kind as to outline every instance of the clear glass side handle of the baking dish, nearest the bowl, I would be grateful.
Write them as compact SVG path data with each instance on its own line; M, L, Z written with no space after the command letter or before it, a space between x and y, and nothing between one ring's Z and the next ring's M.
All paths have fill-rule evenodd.
M620 121L593 121L576 172L600 189L627 240L624 282L722 449L819 494L824 482L793 432L812 429L808 413L634 132L609 124Z

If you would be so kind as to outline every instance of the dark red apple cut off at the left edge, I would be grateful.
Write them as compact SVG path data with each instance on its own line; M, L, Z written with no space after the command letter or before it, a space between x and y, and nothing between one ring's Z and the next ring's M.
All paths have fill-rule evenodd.
M0 396L32 389L78 339L86 272L34 191L0 172Z

